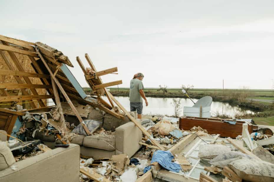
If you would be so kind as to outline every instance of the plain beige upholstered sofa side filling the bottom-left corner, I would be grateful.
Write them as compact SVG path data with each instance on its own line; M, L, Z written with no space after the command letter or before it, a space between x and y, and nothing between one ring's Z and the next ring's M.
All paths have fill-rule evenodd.
M80 146L70 144L68 148L57 148L43 154L16 162L16 170L0 171L1 182L79 182Z

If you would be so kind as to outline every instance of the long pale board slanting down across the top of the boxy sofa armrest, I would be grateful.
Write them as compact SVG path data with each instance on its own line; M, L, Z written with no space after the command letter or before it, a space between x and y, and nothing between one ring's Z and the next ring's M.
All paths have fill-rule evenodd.
M120 107L123 110L123 112L126 114L126 116L143 132L143 134L145 134L146 137L148 137L150 139L152 144L158 146L161 150L164 150L164 147L161 144L159 144L155 139L153 139L151 134L149 134L142 127L142 125L134 117L131 116L131 114L113 97L113 95L110 94L110 97L118 105L118 107Z

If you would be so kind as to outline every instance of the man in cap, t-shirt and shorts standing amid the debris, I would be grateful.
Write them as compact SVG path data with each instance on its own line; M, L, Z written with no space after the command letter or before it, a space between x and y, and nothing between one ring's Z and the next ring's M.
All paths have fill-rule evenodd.
M138 114L138 119L142 119L142 110L143 110L143 99L146 102L146 106L148 106L148 101L146 100L145 93L143 91L144 85L143 73L136 73L133 79L130 81L130 91L129 91L129 101L130 101L130 111L136 111Z

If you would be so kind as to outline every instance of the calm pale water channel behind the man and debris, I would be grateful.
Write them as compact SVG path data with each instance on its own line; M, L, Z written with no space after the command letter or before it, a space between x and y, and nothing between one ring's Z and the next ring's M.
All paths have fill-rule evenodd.
M115 97L128 111L130 110L129 107L129 97ZM106 101L107 98L104 98ZM148 106L143 108L143 114L161 114L161 115L174 115L174 107L171 106L172 98L155 98L155 97L147 97ZM197 99L193 99L194 102ZM145 102L143 102L145 105ZM180 116L183 115L183 107L184 106L193 106L193 103L190 99L181 98L181 112ZM250 110L242 109L237 106L231 106L228 103L223 102L212 102L211 104L211 115L215 116L216 113L219 114L227 114L231 117L235 116L235 114L249 114L254 113Z

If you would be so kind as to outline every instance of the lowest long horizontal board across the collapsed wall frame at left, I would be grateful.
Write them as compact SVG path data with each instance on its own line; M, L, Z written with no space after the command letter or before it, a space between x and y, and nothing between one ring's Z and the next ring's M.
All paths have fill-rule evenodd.
M3 96L0 97L0 102L10 102L10 101L22 101L22 100L41 100L41 99L51 99L54 98L53 95L23 95L23 96Z

